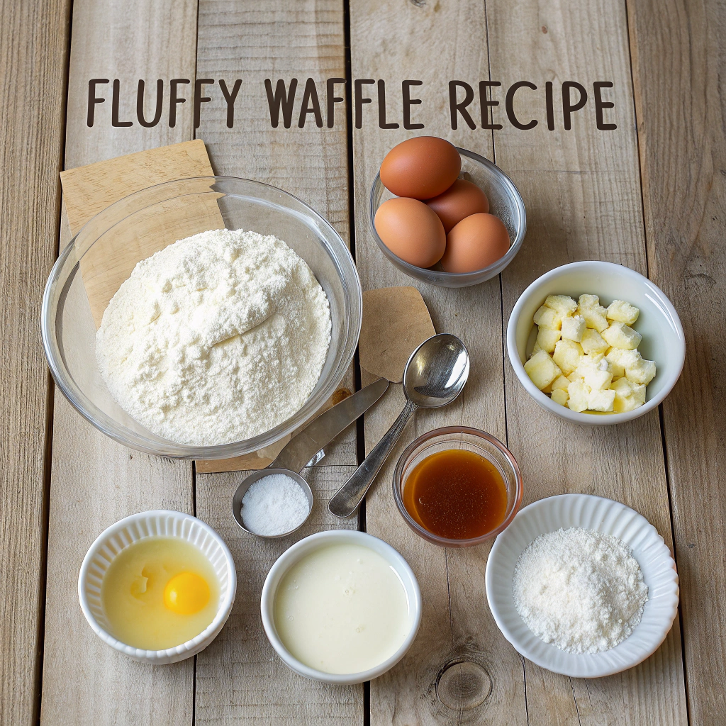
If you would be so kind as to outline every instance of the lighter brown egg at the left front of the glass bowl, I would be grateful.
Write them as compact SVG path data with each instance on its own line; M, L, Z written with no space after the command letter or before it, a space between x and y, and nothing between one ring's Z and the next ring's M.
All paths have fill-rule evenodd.
M389 199L378 208L374 224L383 244L409 264L431 267L444 254L446 232L441 220L417 199Z

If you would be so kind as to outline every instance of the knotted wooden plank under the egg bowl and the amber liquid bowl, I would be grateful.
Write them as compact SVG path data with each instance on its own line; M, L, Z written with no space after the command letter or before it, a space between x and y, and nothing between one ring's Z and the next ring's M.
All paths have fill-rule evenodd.
M475 40L476 39L476 40ZM432 62L435 59L435 62ZM489 131L449 124L448 82L477 83L489 78L486 23L473 3L370 4L351 2L353 78L386 81L387 121L399 129L378 128L377 89L364 106L362 129L354 129L356 260L364 289L415 285L439 332L454 333L468 346L472 368L462 396L445 409L419 411L367 495L367 531L396 547L415 571L423 593L423 622L409 653L391 672L371 683L372 726L383 724L526 723L521 661L505 641L486 607L484 568L489 545L443 550L423 542L401 521L391 496L391 476L399 454L415 436L441 425L464 423L505 440L502 373L502 316L499 280L462 290L422 285L383 258L370 234L368 193L380 162L394 144L417 134L444 136L492 158ZM402 128L401 81L417 79L412 121L425 129ZM362 373L363 383L367 374ZM401 386L366 415L366 448L380 439L403 406ZM459 662L461 661L461 662ZM449 671L449 666L453 669ZM484 700L463 710L446 698L441 674L459 688L481 690ZM491 693L489 693L491 689ZM446 703L449 705L447 706ZM454 706L454 707L451 707Z

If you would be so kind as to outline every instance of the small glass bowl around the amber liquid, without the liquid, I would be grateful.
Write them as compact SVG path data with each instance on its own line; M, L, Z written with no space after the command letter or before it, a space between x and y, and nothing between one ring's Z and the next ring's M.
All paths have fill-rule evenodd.
M450 539L448 537L439 537L438 534L433 534L433 532L428 531L428 529L422 527L419 523L417 523L417 521L415 521L414 518L412 518L404 506L403 498L401 497L401 478L403 476L404 468L412 458L412 454L416 451L416 449L418 449L422 444L425 444L426 441L436 438L436 436L446 436L454 433L468 433L471 436L475 436L478 439L484 439L489 442L489 444L492 444L492 446L496 449L499 449L499 452L502 453L514 471L515 491L513 495L514 503L512 510L504 518L502 523L499 524L499 526L486 534L482 534L480 537L472 537L470 539ZM455 441L455 439L452 439L452 441ZM502 444L502 441L499 441L496 436L492 436L491 433L482 431L480 428L473 428L472 426L442 426L441 428L434 428L431 431L421 434L421 436L414 439L406 447L406 449L404 449L404 452L401 453L399 460L396 462L396 468L393 470L393 499L396 502L396 507L398 507L401 517L404 518L407 525L415 531L419 537L425 539L427 542L431 542L432 544L438 544L441 547L473 547L476 544L482 544L489 539L494 539L494 537L497 537L497 534L507 529L517 515L522 503L522 494L522 473L514 454L512 454L512 452L507 449L507 446Z

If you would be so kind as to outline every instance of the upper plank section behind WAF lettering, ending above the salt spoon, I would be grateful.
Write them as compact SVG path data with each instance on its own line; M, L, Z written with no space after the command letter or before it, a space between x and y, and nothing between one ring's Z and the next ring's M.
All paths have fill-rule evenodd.
M335 125L327 128L325 79L345 77L342 0L274 0L246 4L201 0L197 78L219 78L232 89L242 86L234 103L234 127L227 126L227 104L218 86L200 115L197 138L207 145L217 174L263 181L295 195L335 227L348 242L348 147L343 104L336 104ZM264 81L272 89L282 79L298 79L292 121L272 128ZM298 127L303 89L317 81L323 127L307 115ZM344 95L343 85L335 86ZM354 390L352 367L341 386ZM327 449L326 449L327 450ZM245 457L248 458L248 457ZM325 463L356 460L354 428L327 451ZM239 468L239 465L235 466Z

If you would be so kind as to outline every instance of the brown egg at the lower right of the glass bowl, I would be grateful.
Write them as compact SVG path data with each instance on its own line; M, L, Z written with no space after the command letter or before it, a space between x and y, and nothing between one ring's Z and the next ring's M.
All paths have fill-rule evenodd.
M446 272L474 272L496 262L509 250L509 234L493 214L478 212L462 219L446 235L441 266Z

